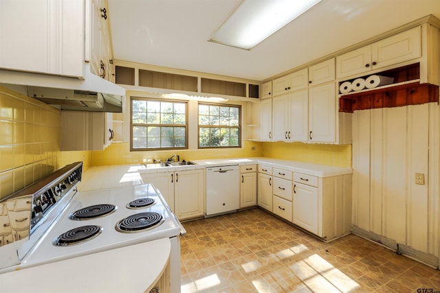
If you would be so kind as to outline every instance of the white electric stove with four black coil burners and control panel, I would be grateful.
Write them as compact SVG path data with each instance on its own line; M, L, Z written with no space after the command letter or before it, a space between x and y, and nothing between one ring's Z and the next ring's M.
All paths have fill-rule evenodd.
M150 184L76 191L81 170L82 163L66 166L61 177L52 174L50 183L34 188L32 199L18 194L0 202L6 226L17 222L14 213L30 215L29 227L12 227L14 241L0 246L0 273L169 238L171 292L179 292L179 235L185 231L159 191Z

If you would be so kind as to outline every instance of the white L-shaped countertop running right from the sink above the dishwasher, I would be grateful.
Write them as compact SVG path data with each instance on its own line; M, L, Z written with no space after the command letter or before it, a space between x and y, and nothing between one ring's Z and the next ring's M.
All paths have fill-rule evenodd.
M318 177L331 177L344 174L352 174L353 169L349 167L336 167L330 165L320 165L284 159L272 159L265 157L238 158L238 159L214 159L214 160L195 160L191 161L198 165L252 165L259 164L267 167L285 169L292 172L299 172Z

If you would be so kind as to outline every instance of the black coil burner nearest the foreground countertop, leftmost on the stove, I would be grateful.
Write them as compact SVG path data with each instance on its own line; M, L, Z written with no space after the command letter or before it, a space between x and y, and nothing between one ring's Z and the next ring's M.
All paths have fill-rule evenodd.
M103 228L97 225L80 226L59 235L53 242L54 246L70 246L94 239Z

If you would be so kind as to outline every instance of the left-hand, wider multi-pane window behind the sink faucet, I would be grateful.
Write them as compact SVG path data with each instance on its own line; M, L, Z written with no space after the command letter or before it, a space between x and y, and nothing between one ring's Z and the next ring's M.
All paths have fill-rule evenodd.
M187 103L131 99L131 150L186 149Z

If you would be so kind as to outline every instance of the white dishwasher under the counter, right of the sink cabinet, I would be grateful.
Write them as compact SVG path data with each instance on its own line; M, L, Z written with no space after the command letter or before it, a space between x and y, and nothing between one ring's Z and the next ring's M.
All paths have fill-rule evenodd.
M240 207L239 165L206 168L206 215Z

